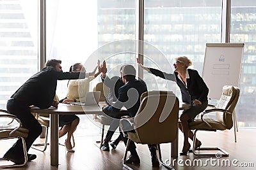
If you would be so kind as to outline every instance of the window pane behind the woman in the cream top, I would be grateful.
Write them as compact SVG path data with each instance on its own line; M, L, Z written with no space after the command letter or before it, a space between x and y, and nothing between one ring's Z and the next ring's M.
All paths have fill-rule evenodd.
M106 60L108 76L119 76L122 63L135 60L133 42L122 41L135 39L135 6L131 0L47 1L47 60L61 59L63 71L80 62L87 72L97 66L97 59ZM122 53L124 47L131 52ZM90 90L99 81L100 76L91 81ZM58 81L60 99L67 94L67 82ZM76 135L99 132L90 116L79 117Z

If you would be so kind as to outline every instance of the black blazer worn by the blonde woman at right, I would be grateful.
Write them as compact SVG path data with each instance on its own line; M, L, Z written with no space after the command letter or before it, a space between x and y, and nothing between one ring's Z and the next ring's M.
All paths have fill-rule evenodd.
M202 77L198 74L195 69L188 69L189 78L187 78L187 87L184 83L178 78L178 73L164 73L158 69L150 68L150 73L164 78L166 80L176 81L177 85L180 88L182 102L184 103L193 103L193 99L197 99L204 103L207 100L209 89L205 84Z

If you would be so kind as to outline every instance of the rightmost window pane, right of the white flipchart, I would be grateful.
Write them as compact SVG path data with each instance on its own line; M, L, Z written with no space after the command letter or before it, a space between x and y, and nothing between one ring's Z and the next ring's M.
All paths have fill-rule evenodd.
M237 120L239 127L256 126L256 1L232 0L230 43L244 43Z

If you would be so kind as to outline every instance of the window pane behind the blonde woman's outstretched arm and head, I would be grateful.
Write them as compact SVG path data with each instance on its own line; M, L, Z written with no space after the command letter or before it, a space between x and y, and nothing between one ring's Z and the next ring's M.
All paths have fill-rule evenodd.
M190 68L202 74L205 43L221 42L221 1L152 1L145 0L144 41L156 46L145 48L144 65L173 73L175 57L187 56L193 61ZM172 90L181 99L176 83L144 72L150 90ZM155 80L152 83L152 80Z

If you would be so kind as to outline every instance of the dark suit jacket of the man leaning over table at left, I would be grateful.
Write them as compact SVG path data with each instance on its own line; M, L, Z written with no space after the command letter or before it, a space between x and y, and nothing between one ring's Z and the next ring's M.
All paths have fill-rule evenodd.
M79 77L80 76L80 77ZM35 105L49 108L56 93L57 80L84 78L85 73L56 71L54 67L44 67L42 71L31 76L11 98L23 106Z

